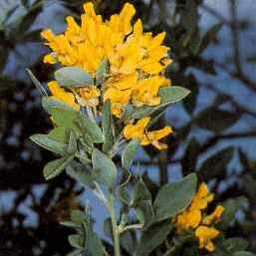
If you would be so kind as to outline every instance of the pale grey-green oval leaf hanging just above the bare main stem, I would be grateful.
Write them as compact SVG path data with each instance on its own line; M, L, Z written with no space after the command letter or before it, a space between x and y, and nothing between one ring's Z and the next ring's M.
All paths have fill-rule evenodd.
M94 177L109 187L113 187L118 171L112 159L99 149L94 148L92 162Z

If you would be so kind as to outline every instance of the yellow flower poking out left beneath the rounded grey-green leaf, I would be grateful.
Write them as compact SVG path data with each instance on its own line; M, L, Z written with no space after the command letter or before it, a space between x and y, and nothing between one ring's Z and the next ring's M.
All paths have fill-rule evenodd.
M52 93L52 97L56 100L62 101L74 108L76 111L80 110L79 105L75 102L75 97L72 93L66 92L61 88L56 81L51 81L48 83L48 88Z

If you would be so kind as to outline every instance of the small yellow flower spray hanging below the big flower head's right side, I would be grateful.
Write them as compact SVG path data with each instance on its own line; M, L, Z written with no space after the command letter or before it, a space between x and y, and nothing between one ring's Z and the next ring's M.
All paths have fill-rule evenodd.
M141 145L152 144L157 149L165 149L166 144L159 142L158 140L172 132L171 128L165 127L158 130L147 131L150 118L146 117L139 120L135 125L127 125L124 128L124 136L126 139L136 138Z

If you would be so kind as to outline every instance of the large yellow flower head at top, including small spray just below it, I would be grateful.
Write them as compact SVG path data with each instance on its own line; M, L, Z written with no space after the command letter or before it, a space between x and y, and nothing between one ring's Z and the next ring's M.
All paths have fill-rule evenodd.
M110 100L112 113L117 118L122 117L128 104L135 107L159 105L159 88L170 86L163 74L171 63L167 57L168 48L162 45L165 33L156 36L143 33L140 19L132 26L135 9L129 3L120 14L106 21L95 13L92 3L86 3L84 10L81 25L73 17L67 17L67 29L63 34L55 35L51 29L42 32L46 45L52 50L44 57L44 62L79 67L96 78L101 64L107 61L108 73L100 86L81 87L72 92L52 81L49 89L53 97L76 110L94 107L100 112L101 101ZM136 137L141 144L152 143L157 148L165 148L158 139L170 133L170 128L146 132L148 122L146 118L136 125L128 125L125 136L128 139ZM131 129L138 127L141 127L139 135L132 134Z

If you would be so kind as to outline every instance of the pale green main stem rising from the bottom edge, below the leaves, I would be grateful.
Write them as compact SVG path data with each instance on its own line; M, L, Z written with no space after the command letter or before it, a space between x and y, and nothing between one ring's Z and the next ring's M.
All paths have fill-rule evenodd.
M110 210L111 216L112 216L112 229L113 229L113 237L114 237L115 256L121 256L120 232L119 232L119 226L118 226L118 223L117 223L117 218L116 218L116 213L115 213L114 196L113 196L113 194L110 195L109 210Z

